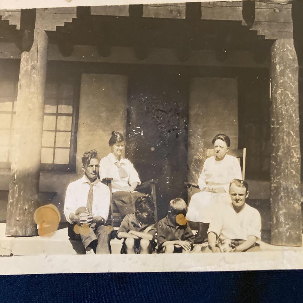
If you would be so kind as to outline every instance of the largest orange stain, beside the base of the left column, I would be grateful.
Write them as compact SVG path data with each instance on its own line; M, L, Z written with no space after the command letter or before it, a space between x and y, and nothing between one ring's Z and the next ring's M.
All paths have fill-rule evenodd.
M43 205L36 209L34 220L38 225L38 235L41 237L51 237L58 229L60 213L53 204Z

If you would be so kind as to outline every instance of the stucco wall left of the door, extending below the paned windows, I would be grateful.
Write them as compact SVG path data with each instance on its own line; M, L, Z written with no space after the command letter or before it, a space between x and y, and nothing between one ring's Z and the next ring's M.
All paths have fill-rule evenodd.
M128 78L121 75L82 74L76 172L40 173L40 191L57 192L52 201L58 206L62 218L65 191L68 184L82 176L81 155L96 148L101 157L110 152L108 140L113 130L125 134ZM10 170L0 170L0 221L5 220ZM48 201L41 201L48 204Z

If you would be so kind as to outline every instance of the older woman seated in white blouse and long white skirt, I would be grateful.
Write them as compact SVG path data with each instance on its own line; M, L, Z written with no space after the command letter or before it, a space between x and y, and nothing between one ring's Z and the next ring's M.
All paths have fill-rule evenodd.
M241 167L237 158L228 155L230 139L219 134L212 139L215 156L204 162L198 178L200 192L191 197L186 218L198 222L195 243L201 243L207 236L209 222L216 209L229 204L229 183L233 179L242 179Z

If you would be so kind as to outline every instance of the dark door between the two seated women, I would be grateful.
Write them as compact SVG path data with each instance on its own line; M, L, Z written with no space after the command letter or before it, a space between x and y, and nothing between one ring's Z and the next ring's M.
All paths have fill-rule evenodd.
M126 156L142 183L158 179L161 219L171 199L186 198L188 80L178 71L153 68L134 72L128 87Z

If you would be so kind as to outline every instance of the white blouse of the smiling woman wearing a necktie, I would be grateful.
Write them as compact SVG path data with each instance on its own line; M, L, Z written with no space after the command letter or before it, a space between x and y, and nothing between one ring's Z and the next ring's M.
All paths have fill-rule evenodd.
M131 161L121 156L121 168L126 172L125 177L122 178L119 175L119 168L115 163L118 163L118 161L112 153L101 159L99 168L100 180L103 178L113 178L112 181L120 186L129 186L133 182L138 182L138 185L141 184L139 175ZM112 188L112 192L116 191L120 190Z

